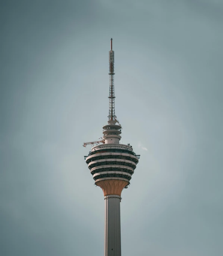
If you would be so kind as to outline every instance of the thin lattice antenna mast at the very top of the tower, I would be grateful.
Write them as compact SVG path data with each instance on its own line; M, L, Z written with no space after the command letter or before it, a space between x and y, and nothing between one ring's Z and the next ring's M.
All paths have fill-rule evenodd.
M109 51L109 115L108 120L116 120L115 116L115 90L114 90L114 62L115 52L112 50L112 38L111 38L111 50Z

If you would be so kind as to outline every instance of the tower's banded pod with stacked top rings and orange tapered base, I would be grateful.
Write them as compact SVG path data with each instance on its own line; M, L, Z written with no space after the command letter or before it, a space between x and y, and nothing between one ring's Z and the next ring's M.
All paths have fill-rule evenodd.
M121 128L116 121L108 121L108 124L103 126L105 144L93 146L89 155L84 157L95 185L102 188L105 196L121 196L121 191L130 184L131 176L139 162L140 155L133 152L130 144L119 144Z

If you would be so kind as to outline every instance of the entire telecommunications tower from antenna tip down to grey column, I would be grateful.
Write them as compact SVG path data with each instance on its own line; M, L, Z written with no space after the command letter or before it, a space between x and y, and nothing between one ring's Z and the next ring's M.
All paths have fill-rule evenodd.
M114 51L109 51L109 115L103 126L103 137L85 142L93 147L84 156L95 185L102 188L105 197L105 256L121 256L120 202L123 188L128 188L140 155L130 144L120 144L121 125L115 116ZM96 144L96 145L95 145Z

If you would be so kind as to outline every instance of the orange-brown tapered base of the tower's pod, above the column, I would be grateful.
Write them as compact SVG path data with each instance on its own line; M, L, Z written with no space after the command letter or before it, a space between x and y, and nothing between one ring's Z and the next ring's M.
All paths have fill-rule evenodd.
M124 179L102 179L95 182L97 186L102 188L104 196L106 195L120 195L123 188L129 184Z

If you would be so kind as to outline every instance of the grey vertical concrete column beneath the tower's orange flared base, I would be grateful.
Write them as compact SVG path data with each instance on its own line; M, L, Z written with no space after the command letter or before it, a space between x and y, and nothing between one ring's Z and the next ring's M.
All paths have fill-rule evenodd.
M105 256L121 256L120 195L105 196Z

